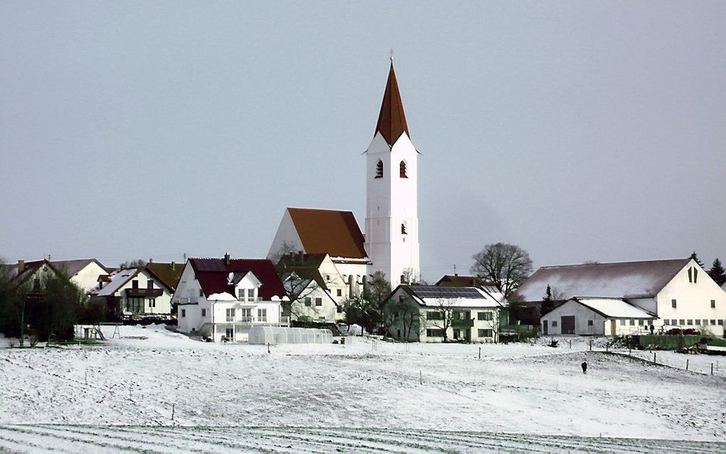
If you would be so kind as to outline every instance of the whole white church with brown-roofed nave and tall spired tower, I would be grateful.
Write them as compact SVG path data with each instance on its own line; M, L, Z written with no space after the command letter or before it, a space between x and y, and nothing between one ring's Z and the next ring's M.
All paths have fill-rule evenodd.
M267 255L328 254L351 293L383 272L391 286L420 277L417 155L409 136L396 72L386 91L366 155L365 234L351 211L287 208Z

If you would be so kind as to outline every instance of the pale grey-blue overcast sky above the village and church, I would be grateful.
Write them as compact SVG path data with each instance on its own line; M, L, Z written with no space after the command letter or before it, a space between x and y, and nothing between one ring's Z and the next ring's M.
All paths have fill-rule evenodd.
M726 2L0 3L0 256L261 257L365 210L389 49L425 279L726 259Z

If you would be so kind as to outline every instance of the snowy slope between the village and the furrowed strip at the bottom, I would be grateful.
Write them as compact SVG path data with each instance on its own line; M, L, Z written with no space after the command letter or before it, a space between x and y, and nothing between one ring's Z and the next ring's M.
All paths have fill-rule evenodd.
M726 438L726 368L710 376L651 365L587 352L578 338L571 349L485 344L480 360L478 345L353 338L268 354L154 326L121 327L121 336L0 349L0 445L19 423Z

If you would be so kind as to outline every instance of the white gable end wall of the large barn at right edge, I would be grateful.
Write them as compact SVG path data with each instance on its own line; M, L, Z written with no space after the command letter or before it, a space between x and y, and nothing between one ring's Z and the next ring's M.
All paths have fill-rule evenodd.
M688 269L698 269L696 282L688 281ZM672 307L672 300L676 300L676 307ZM715 301L715 308L711 308L711 300ZM658 302L658 318L656 326L677 325L682 328L703 328L703 320L707 320L709 330L717 336L723 336L724 320L726 320L726 292L701 268L696 261L691 260L656 296ZM684 323L680 323L681 320ZM691 320L690 325L688 320ZM699 320L700 324L696 324ZM711 325L711 320L716 325ZM719 320L721 325L719 325ZM666 326L667 328L667 326Z

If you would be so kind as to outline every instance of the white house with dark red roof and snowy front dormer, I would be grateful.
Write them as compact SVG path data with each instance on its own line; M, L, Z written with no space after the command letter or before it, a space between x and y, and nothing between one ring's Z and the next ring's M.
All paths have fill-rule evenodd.
M285 288L265 259L189 259L176 286L179 331L213 341L248 341L254 326L288 324Z

